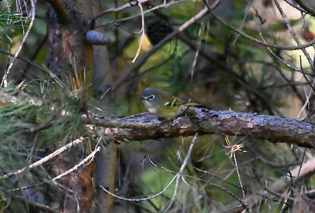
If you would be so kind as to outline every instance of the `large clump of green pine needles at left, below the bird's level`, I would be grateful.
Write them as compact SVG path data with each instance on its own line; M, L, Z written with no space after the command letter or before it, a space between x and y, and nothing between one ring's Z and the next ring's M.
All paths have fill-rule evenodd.
M69 96L65 88L49 81L34 80L24 85L23 89L28 93L10 87L0 91L1 100L7 100L0 104L2 175L27 167L39 156L47 155L52 147L60 147L86 134L80 121L83 103L79 98ZM30 92L34 95L30 96ZM32 197L37 196L36 199L32 198L35 202L43 202L37 199L43 196L45 185L37 184L51 179L46 169L41 166L26 169L6 179L2 177L2 204L5 205L9 197L13 197L17 203L22 202L19 196L24 194L33 194ZM12 191L34 185L30 189Z

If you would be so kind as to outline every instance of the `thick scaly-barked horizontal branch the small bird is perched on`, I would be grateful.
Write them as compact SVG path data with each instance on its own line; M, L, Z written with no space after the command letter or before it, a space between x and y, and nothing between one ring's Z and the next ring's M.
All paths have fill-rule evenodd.
M108 141L132 141L200 134L250 134L255 139L315 148L315 125L278 116L256 113L214 111L189 107L187 115L159 126L156 116L106 120L83 118L87 124L102 126Z

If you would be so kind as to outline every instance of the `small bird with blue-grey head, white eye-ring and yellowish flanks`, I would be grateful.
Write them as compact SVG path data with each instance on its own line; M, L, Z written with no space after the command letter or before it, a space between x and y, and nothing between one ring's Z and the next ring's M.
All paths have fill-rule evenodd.
M140 100L151 114L167 119L174 118L183 106L197 105L184 103L179 98L154 87L148 87L143 90Z

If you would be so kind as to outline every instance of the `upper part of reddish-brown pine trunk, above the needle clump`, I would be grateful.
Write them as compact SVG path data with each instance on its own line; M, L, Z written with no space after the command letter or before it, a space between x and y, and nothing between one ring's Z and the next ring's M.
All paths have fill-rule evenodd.
M91 19L91 0L49 0L47 11L48 68L68 81L74 90L89 87L93 82L93 46L85 42ZM84 88L85 98L93 94L93 88Z

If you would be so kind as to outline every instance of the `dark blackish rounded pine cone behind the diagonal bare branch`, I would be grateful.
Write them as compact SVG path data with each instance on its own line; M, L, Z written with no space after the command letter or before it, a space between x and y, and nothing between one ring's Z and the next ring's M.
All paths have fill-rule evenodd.
M156 45L160 42L165 36L173 32L173 28L165 21L158 20L151 22L146 29L146 36L152 43Z

